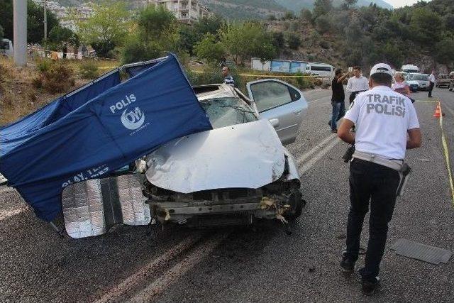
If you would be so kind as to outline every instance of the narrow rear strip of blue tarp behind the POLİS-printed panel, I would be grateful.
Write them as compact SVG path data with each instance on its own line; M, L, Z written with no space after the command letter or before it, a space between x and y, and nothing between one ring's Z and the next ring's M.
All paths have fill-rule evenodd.
M96 79L94 82L55 99L50 104L25 116L23 119L8 126L0 127L0 157L33 136L40 128L66 116L71 111L87 103L87 101L119 83L120 72L118 70L109 72L109 74Z

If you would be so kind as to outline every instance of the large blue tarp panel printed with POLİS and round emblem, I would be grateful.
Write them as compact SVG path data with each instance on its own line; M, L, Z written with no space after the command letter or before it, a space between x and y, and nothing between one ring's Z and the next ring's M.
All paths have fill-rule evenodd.
M4 143L0 172L41 219L50 221L61 210L67 185L105 177L162 143L209 129L182 67L169 55L20 144Z

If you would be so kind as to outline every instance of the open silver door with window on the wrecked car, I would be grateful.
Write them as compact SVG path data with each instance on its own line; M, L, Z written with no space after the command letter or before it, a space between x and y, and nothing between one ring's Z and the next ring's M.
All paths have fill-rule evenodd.
M248 82L247 87L260 118L270 121L282 144L293 143L307 109L299 89L277 79Z

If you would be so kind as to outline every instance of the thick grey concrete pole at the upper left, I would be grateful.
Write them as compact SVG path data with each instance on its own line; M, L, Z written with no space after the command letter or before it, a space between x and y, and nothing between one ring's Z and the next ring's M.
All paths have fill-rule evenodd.
M13 0L13 55L17 66L27 63L27 0Z

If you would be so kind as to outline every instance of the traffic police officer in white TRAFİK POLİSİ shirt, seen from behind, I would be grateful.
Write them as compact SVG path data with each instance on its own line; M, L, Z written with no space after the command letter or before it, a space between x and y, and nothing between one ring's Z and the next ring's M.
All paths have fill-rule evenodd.
M358 94L344 116L338 137L355 144L350 163L350 212L347 249L341 268L353 272L358 260L360 235L370 206L369 243L365 267L360 270L362 291L373 294L380 261L392 219L405 150L421 145L418 117L410 99L392 91L392 70L380 63L370 71L370 90ZM356 133L350 132L353 124ZM407 138L408 134L408 138Z

